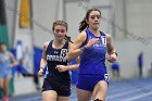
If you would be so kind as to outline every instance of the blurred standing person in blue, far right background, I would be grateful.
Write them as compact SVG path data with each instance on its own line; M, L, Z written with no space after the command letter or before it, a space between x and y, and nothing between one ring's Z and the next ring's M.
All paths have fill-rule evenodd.
M139 67L139 76L142 77L143 52L140 52L139 55L138 55L138 67Z

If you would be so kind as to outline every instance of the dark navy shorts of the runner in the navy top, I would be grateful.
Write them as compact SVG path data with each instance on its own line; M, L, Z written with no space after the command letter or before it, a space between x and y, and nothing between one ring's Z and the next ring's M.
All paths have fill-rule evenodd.
M71 96L71 80L59 81L51 78L45 78L42 91L54 90L58 96Z

